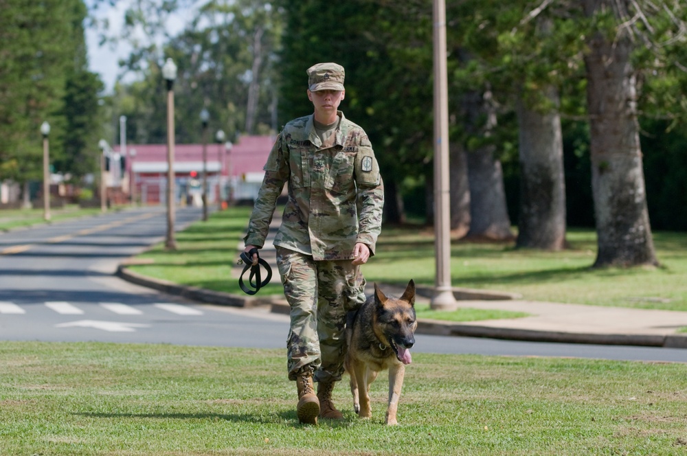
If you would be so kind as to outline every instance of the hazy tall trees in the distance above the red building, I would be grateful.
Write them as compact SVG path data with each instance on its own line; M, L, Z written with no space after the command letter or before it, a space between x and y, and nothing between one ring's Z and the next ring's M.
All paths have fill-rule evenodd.
M212 0L199 8L178 3L144 0L126 14L122 38L139 43L125 61L124 73L137 80L117 84L115 110L131 119L128 136L137 142L164 142L164 94L159 69L171 57L179 67L174 84L177 141L201 141L199 113L210 113L212 128L229 139L240 133L267 134L273 127L273 100L280 73L273 69L280 46L281 16L271 3L259 0ZM176 8L188 8L190 20L175 36L166 21ZM137 41L132 30L146 30ZM112 33L112 32L108 32ZM155 36L165 36L157 45Z

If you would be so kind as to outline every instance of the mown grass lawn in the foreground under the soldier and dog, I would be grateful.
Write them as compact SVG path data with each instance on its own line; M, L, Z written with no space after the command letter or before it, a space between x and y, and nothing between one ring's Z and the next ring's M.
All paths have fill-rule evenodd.
M414 354L385 426L298 424L282 350L0 342L3 455L677 455L685 365Z

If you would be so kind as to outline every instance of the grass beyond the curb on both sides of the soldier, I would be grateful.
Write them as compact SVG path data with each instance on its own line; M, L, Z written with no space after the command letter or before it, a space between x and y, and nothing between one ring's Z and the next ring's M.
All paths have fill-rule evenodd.
M231 277L237 245L245 234L249 207L211 214L177 235L179 249L158 245L144 253L153 264L136 265L137 273L240 294ZM570 229L570 247L561 252L515 249L512 243L451 243L453 286L520 293L524 299L595 306L621 306L687 311L687 236L657 232L658 268L591 269L596 258L596 233ZM434 281L433 231L419 225L383 227L376 256L363 266L368 282L405 286ZM409 272L412 271L412 272ZM260 294L282 293L278 280ZM515 316L515 315L513 315ZM502 318L502 317L498 317Z

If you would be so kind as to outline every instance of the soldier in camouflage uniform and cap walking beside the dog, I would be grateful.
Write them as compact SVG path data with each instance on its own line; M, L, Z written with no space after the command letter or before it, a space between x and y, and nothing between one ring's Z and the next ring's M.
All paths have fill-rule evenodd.
M346 312L365 301L360 265L374 255L384 194L368 136L337 109L346 95L343 67L319 63L307 73L314 113L293 119L278 135L244 240L246 252L262 247L288 182L274 238L291 306L287 367L297 382L298 420L317 424L318 416L343 418L332 391L343 374Z

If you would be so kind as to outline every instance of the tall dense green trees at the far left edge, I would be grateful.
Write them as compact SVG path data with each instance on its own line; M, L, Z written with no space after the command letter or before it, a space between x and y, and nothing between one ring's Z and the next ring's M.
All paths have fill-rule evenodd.
M43 179L44 120L56 171L87 171L100 82L86 69L85 13L81 0L0 2L0 179Z

